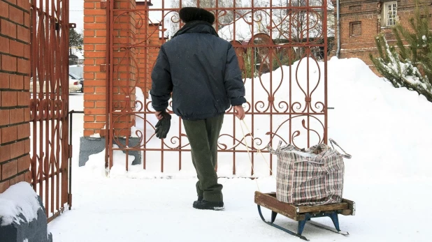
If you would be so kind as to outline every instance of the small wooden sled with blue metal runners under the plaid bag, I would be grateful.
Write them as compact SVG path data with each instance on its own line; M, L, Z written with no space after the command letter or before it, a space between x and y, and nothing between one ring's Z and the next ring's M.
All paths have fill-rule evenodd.
M327 205L316 205L316 206L295 206L293 204L287 204L285 202L279 202L276 199L276 193L261 193L255 192L255 203L258 205L258 213L261 219L266 222L266 224L281 229L288 234L297 236L300 239L305 241L309 241L305 236L302 236L303 229L305 227L306 222L310 225L314 225L315 227L319 227L321 229L326 229L331 232L335 232L338 234L343 234L345 236L349 235L348 232L342 231L339 229L339 220L338 214L342 215L354 215L356 212L356 204L348 199L343 199L342 202L338 204L327 204ZM264 216L261 213L261 206L264 206L267 209L271 210L271 222L268 222L264 219ZM298 221L297 232L292 232L289 229L285 229L280 227L279 225L275 225L276 215L278 213L285 215L288 218L291 218L294 221ZM311 218L319 218L319 217L330 217L333 221L333 225L335 228L328 227L326 225L321 225L316 222L312 222Z

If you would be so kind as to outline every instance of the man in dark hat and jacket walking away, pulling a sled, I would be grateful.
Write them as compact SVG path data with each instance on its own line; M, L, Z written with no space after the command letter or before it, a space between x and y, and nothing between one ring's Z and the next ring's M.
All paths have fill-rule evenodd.
M171 116L165 110L172 92L173 112L183 120L199 179L193 206L219 210L224 202L215 172L217 139L231 105L238 119L245 117L245 86L231 43L213 29L215 16L203 8L182 8L180 19L185 26L161 46L152 71L156 133L159 138L168 133Z

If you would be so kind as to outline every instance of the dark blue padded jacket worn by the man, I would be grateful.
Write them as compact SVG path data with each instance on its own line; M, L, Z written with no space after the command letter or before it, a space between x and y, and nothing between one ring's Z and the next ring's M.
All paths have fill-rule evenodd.
M152 107L164 111L171 92L173 112L189 120L217 116L246 102L236 52L211 24L188 22L161 46L152 71Z

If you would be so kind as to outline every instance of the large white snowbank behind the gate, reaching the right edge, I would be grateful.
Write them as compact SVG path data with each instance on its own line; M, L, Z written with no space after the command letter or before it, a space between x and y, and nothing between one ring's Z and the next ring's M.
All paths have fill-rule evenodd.
M307 67L309 65L309 73ZM268 93L275 96L275 107L278 112L285 112L287 105L284 101L289 100L289 73L291 73L291 100L296 112L301 112L305 107L305 94L307 90L306 75L309 75L310 92L312 93L312 107L317 112L322 109L319 102L324 103L324 80L320 75L324 73L324 63L316 62L313 59L302 59L289 66L282 66L273 73L266 73L253 81L254 93L252 93L252 80L245 80L246 98L254 101L264 101L264 105L258 105L262 112L266 111ZM273 88L270 88L270 75L272 75ZM280 86L278 90L276 87ZM303 90L303 91L302 91ZM406 88L395 89L389 82L377 77L368 66L360 59L337 59L328 61L328 105L335 109L329 109L328 127L329 138L333 138L340 146L350 153L352 160L345 160L347 176L368 176L375 178L393 179L399 176L429 176L432 168L430 163L424 162L429 156L429 147L432 146L432 104L424 96L408 91ZM136 89L138 100L144 102L141 89ZM148 100L147 100L148 101ZM147 148L160 149L161 140L154 135L154 125L157 119L153 115L147 115L148 123L146 129ZM273 132L279 127L278 135L288 139L289 134L288 116L273 116ZM319 121L324 123L322 117ZM298 130L301 135L294 138L294 143L301 148L307 148L306 130L303 128L304 116L291 119L292 130ZM247 134L251 126L251 116L245 118L247 126L244 126L237 119L226 118L222 126L221 134L230 134L233 126L236 126L236 137L243 139L243 133ZM133 134L143 130L143 117L136 118L136 129ZM187 144L187 137L178 138L179 119L173 116L171 130L168 138L164 140L164 146L175 147L180 144ZM254 116L254 136L261 139L256 144L259 149L265 149L270 140L266 135L269 128L268 115ZM321 124L310 119L310 127L322 134ZM243 128L243 130L242 130ZM293 131L294 132L294 131ZM182 129L182 133L185 131ZM310 144L316 144L322 140L315 133L310 135ZM150 140L149 140L150 139ZM246 139L247 144L252 143L252 138ZM278 144L279 138L273 139L273 144ZM246 150L243 144L238 141L233 144L232 137L223 135L219 138L219 147L236 146L236 149ZM257 143L257 140L255 141ZM188 149L190 146L186 146ZM142 153L143 154L143 153ZM103 153L98 158L104 160ZM164 152L164 172L161 173L160 151L147 151L145 167L131 165L133 156L129 158L129 172L125 171L125 154L115 151L114 167L110 177L129 178L189 178L196 176L192 165L190 154L182 152L181 171L179 172L179 153L174 151ZM218 153L219 176L241 177L251 176L252 165L250 159L254 158L254 176L268 176L270 155L260 154L236 154L236 175L233 175L233 154L226 152ZM92 160L92 159L90 159ZM273 157L273 171L276 169L276 158ZM142 162L144 162L142 160ZM103 163L103 162L102 162ZM87 167L87 165L86 165ZM90 168L90 169L94 169ZM99 173L105 174L104 167L99 167Z

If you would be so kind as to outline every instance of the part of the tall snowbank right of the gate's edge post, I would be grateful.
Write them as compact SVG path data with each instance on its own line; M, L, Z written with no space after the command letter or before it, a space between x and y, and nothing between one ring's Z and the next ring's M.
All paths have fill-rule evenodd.
M329 61L329 137L352 154L347 177L430 177L432 103L394 88L360 59Z

